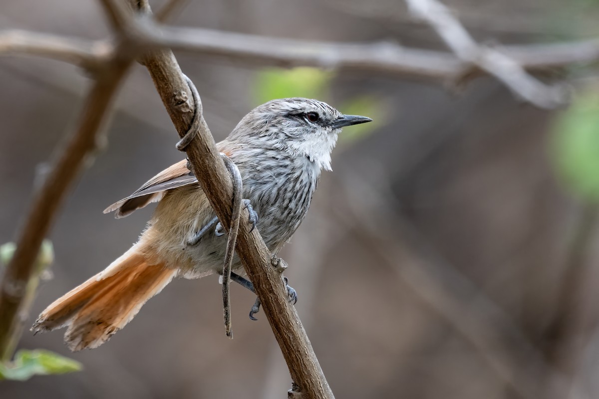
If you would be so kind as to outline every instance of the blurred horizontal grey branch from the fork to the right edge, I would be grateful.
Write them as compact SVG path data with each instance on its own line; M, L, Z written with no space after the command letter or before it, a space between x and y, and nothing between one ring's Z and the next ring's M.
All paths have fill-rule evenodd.
M473 68L473 60L456 57L445 51L403 47L395 42L343 43L273 38L246 33L201 28L164 27L155 32L149 43L167 45L174 50L192 51L211 56L242 59L259 65L285 68L316 66L332 69L361 69L405 77L433 80L464 78ZM493 50L497 52L497 50ZM599 60L599 40L557 44L528 44L501 47L501 53L521 68L547 71L573 63ZM542 60L542 62L540 62ZM498 68L501 65L498 65ZM491 71L482 69L480 72Z

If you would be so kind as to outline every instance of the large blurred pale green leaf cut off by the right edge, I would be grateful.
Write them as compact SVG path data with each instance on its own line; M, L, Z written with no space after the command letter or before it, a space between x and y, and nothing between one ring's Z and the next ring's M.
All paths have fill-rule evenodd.
M599 202L599 94L582 93L553 124L552 156L558 176L577 196Z

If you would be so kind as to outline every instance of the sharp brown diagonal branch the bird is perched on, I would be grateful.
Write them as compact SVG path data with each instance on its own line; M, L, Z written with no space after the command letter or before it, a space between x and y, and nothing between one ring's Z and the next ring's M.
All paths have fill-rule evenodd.
M151 13L147 2L141 1L142 12ZM181 73L172 51L158 51L143 59L156 85L168 114L179 136L186 135L195 112L202 112L201 102L193 103L189 86ZM201 114L200 114L201 115ZM214 138L204 118L195 138L186 148L193 173L204 190L225 230L230 230L231 178L216 150ZM242 218L249 214L244 209ZM302 398L333 398L310 340L301 325L295 308L289 304L285 284L279 271L271 264L271 253L258 229L243 223L237 239L237 253L252 281L256 294L264 305L264 312L279 342L283 357L294 381L294 391ZM297 396L297 395L296 395Z

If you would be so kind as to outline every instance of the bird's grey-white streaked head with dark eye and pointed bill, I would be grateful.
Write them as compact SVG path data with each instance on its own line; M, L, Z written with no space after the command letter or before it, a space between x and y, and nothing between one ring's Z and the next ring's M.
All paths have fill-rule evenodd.
M370 121L368 117L343 115L322 101L285 98L250 111L229 138L305 156L319 168L330 170L331 151L341 128Z

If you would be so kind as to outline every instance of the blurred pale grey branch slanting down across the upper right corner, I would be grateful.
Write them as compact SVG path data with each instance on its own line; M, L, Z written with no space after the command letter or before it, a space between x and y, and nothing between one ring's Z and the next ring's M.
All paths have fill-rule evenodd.
M441 36L456 56L497 78L522 99L541 108L555 108L567 101L562 87L550 87L531 75L507 54L477 44L449 8L437 0L406 0L415 18L424 20Z

